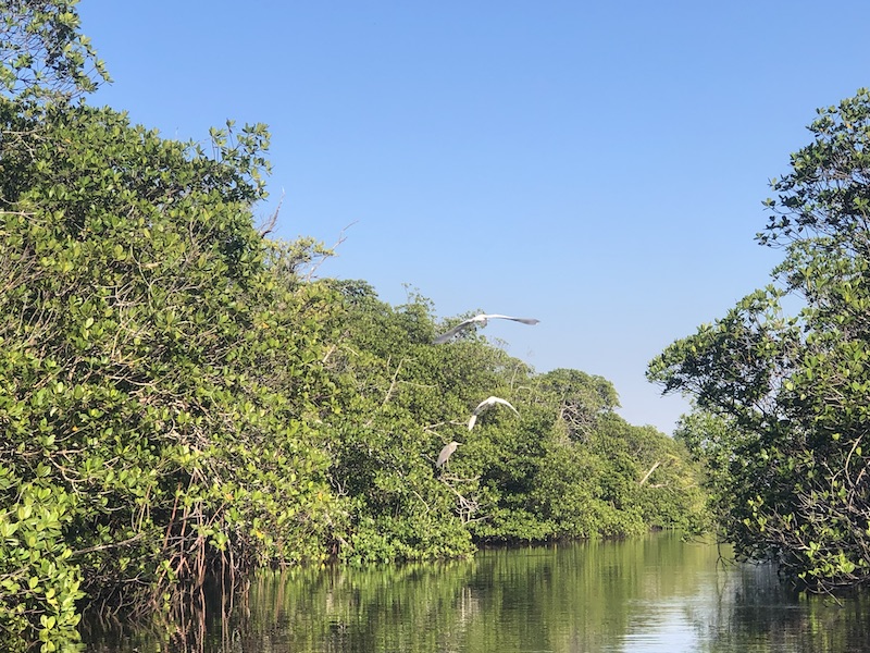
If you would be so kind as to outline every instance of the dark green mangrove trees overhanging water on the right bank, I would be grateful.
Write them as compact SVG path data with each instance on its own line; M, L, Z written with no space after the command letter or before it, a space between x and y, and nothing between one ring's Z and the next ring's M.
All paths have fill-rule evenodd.
M870 91L809 130L758 235L785 252L775 283L649 377L697 402L678 438L707 465L724 537L830 591L870 582Z

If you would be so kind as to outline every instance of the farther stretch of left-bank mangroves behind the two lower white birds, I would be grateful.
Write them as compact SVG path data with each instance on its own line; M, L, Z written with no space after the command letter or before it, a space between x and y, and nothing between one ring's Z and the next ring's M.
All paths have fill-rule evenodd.
M701 491L684 448L617 416L605 379L535 374L481 335L433 346L438 330L424 297L394 308L364 282L331 283L344 297L327 364L341 389L331 473L347 497L344 558L455 556L471 551L469 535L623 537L700 521ZM490 395L520 417L490 409L469 430L472 409ZM453 440L461 447L436 469Z

